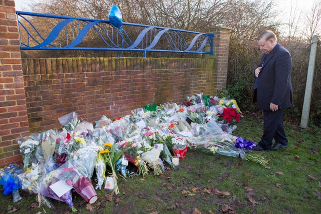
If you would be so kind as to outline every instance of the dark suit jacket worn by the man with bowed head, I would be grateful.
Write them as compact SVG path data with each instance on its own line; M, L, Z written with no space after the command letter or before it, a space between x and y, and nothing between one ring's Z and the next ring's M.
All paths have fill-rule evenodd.
M270 103L278 105L279 109L290 107L293 97L290 53L277 43L269 54L263 54L258 67L261 66L254 83L259 108L269 110Z

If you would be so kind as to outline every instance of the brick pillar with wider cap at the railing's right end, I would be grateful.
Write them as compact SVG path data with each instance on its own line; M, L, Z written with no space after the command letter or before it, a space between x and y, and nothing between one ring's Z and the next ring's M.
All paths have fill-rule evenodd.
M226 90L227 66L229 59L230 33L232 29L226 27L209 28L209 33L214 33L213 52L217 57L215 66L215 83L218 90Z

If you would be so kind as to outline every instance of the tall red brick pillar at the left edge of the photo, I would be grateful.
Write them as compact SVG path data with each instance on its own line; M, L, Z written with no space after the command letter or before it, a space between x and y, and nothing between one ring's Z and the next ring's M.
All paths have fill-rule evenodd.
M0 167L21 163L17 137L29 134L15 1L0 0Z

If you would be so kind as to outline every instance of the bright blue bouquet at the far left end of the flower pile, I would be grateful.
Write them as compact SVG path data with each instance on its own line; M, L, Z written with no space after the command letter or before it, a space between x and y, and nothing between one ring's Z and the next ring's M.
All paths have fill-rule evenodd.
M0 185L3 185L3 194L7 195L12 193L15 203L22 199L19 194L19 189L21 188L22 183L17 177L17 174L21 172L21 168L15 164L11 164L4 169L0 169Z

